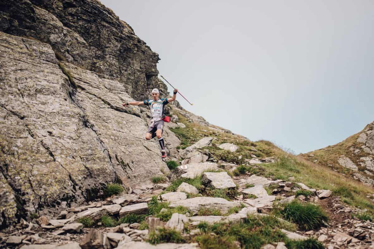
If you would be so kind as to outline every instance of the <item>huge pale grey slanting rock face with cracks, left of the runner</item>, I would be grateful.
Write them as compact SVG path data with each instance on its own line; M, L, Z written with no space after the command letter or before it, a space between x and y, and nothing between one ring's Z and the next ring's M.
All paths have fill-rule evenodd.
M161 174L159 145L143 139L145 113L121 107L132 100L122 83L58 62L48 44L2 32L0 54L3 226L56 200L89 201L108 182L151 184L149 176Z

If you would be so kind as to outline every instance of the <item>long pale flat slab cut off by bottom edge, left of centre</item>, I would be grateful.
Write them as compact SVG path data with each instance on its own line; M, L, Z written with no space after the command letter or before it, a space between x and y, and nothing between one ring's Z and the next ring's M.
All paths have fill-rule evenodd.
M162 243L158 245L151 245L147 242L126 242L119 243L116 249L200 249L198 243L191 244L176 244L176 243Z

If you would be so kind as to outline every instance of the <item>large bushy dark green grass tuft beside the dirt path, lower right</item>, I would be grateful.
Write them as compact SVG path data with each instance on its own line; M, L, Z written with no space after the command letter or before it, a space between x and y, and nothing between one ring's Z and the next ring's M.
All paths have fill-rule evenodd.
M293 201L285 204L280 213L286 220L298 224L300 229L306 231L318 229L324 221L328 221L327 214L319 206L310 203Z

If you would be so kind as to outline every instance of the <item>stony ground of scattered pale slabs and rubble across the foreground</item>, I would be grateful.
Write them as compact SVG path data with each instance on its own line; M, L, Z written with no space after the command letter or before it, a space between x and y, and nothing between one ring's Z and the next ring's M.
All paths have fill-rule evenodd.
M220 162L214 163L209 157L204 157L197 149L202 149L211 143L211 138L203 138L190 147L180 150L179 153L188 161L168 175L164 183L154 184L151 187L130 189L128 193L113 195L104 201L90 202L89 205L73 207L61 211L54 217L42 216L31 222L21 220L15 228L1 233L1 247L22 249L44 248L163 248L163 249L192 249L199 248L194 242L194 236L200 231L197 226L202 223L237 223L242 222L247 215L272 215L273 209L298 199L302 203L319 205L329 217L323 227L315 230L296 230L283 233L291 240L306 240L316 238L328 249L333 248L374 248L374 223L353 218L356 209L342 203L338 197L333 196L330 190L310 189L303 183L295 182L293 177L289 181L267 179L260 175L245 173L239 176L230 176L230 172L237 169L235 164ZM237 149L233 144L222 145L224 149ZM188 156L189 155L189 156ZM252 160L252 161L251 161ZM246 160L251 167L258 167L262 161L273 161L273 158L255 158ZM264 163L266 164L266 163ZM219 172L222 170L221 172ZM227 171L223 171L227 170ZM209 172L211 171L211 172ZM236 190L235 196L227 200L224 198L209 197L199 194L196 187L183 182L175 192L166 191L171 180L193 179L202 174L202 183L205 188ZM307 196L295 196L298 190L306 190ZM123 223L116 227L103 227L101 217L126 217L129 214L147 214L152 196L157 196L159 202L168 202L167 209L183 206L188 210L183 214L175 212L168 221L162 221L154 215L145 217L144 222ZM202 209L214 209L220 215L201 215ZM224 215L236 209L229 215ZM94 228L86 228L79 221L90 218ZM286 222L286 221L284 221ZM145 224L145 226L144 226ZM149 233L155 228L165 227L175 229L189 238L192 243L148 243ZM144 229L147 228L147 229ZM188 229L187 229L188 228ZM214 234L212 234L214 236ZM238 242L237 248L240 245ZM263 245L263 248L286 248L284 243Z

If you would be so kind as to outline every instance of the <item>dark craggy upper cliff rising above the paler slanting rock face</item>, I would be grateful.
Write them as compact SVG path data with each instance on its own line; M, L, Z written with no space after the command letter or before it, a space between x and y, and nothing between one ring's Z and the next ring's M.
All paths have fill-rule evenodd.
M148 98L153 88L167 94L157 78L158 54L98 1L4 0L0 18L0 31L36 38L69 63L126 82L124 90L133 98Z

